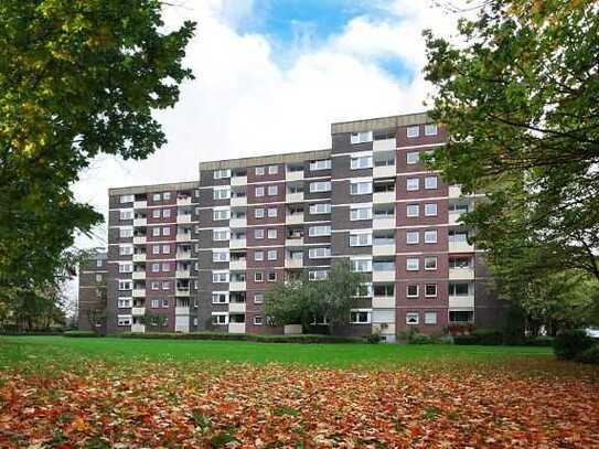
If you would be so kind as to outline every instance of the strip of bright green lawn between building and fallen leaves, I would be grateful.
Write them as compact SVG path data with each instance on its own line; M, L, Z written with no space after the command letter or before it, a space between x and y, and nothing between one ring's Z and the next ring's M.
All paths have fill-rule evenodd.
M297 344L226 341L132 340L118 338L1 336L0 368L21 364L67 365L101 359L106 362L248 362L317 365L323 367L394 367L438 360L504 361L518 357L553 359L549 348L457 346L405 344Z

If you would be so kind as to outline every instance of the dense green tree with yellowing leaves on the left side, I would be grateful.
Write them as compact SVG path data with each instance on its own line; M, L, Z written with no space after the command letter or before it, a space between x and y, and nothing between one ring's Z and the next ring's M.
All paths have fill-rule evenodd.
M159 0L0 2L0 299L61 269L75 231L101 220L71 185L99 153L142 159L165 142L194 32L164 32Z

